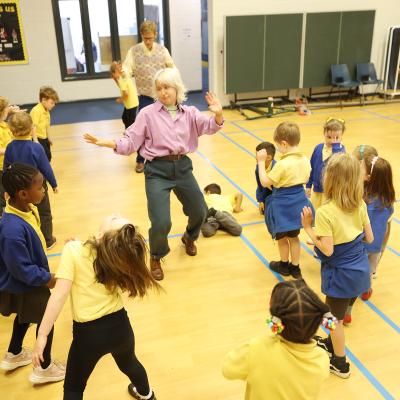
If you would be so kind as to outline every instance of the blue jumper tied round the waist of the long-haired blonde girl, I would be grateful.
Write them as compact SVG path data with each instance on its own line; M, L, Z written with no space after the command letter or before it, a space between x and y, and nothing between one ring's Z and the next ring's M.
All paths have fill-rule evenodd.
M371 287L363 238L364 234L361 234L351 242L335 245L330 257L314 247L321 260L322 293L330 297L352 298Z

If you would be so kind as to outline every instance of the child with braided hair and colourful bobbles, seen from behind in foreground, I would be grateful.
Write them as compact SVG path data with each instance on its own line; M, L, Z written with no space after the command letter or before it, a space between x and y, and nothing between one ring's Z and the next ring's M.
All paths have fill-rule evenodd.
M329 357L312 338L321 323L334 329L337 321L303 279L274 287L270 313L272 334L232 350L223 375L246 381L246 400L317 399L329 376Z

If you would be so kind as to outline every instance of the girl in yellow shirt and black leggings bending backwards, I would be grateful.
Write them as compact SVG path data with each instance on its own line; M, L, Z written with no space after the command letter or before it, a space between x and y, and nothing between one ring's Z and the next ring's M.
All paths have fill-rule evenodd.
M33 353L33 363L43 358L49 332L71 295L73 341L69 349L64 400L83 398L94 367L111 354L129 377L128 391L138 400L154 400L147 373L135 355L135 337L121 292L143 297L160 286L146 266L144 238L126 219L109 217L99 233L84 243L68 242L56 274L57 283L48 302Z

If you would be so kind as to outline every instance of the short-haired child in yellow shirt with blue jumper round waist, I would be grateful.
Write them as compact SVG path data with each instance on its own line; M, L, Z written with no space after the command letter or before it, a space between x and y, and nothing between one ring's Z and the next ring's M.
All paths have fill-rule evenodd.
M296 124L279 124L274 132L274 142L282 156L268 174L265 171L268 154L265 149L257 152L260 182L264 187L273 186L265 219L272 238L278 242L280 260L271 261L269 265L272 271L297 279L301 277L298 237L301 210L311 206L304 190L310 177L310 161L298 149L300 130Z

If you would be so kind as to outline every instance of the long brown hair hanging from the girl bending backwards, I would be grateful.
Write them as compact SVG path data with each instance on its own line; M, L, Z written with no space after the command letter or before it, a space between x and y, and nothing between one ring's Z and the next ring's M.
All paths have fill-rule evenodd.
M161 289L147 268L147 245L134 225L104 233L100 239L85 242L95 251L93 268L96 281L108 290L128 292L129 297L143 297L149 289Z

